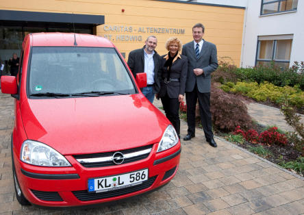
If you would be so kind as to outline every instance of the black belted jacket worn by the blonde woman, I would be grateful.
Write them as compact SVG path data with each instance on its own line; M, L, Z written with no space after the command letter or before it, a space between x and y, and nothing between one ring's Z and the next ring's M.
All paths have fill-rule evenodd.
M169 98L178 98L179 94L183 95L185 93L188 60L186 56L177 54L173 59L170 69L170 78L179 79L179 82L169 82L168 84L164 83L164 78L167 77L168 74L168 67L164 66L166 60L168 60L168 55L162 55L160 60L161 68L158 73L160 79L159 96L164 97L167 92Z

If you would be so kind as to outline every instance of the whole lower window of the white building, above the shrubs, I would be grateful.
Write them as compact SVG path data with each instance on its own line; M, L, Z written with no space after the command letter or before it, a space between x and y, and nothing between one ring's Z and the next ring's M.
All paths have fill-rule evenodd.
M275 66L288 68L292 49L292 34L276 36L259 36L257 39L256 66Z

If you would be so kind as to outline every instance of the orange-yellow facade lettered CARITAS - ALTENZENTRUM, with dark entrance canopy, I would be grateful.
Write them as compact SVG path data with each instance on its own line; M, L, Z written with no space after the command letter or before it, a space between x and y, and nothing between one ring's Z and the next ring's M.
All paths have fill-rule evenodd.
M177 37L192 40L192 26L205 25L205 40L217 45L218 56L240 64L245 8L237 5L174 0L2 0L0 1L0 58L19 53L26 34L64 31L104 36L125 55L158 39L156 51Z

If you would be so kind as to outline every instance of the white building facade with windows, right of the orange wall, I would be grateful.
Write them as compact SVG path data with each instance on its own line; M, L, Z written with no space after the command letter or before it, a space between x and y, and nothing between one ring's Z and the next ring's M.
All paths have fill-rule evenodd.
M304 1L248 0L240 66L304 61Z

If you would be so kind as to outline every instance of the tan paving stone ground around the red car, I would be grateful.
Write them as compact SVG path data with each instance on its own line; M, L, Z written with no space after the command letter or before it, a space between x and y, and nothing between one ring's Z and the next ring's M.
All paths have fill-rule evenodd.
M181 140L177 175L155 192L87 209L22 207L12 179L13 105L12 97L0 92L0 214L304 214L303 178L220 138L214 149L201 129L192 140ZM186 132L181 122L181 136Z

